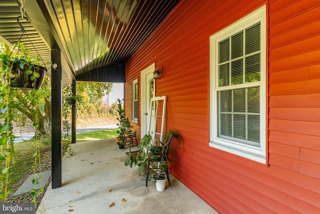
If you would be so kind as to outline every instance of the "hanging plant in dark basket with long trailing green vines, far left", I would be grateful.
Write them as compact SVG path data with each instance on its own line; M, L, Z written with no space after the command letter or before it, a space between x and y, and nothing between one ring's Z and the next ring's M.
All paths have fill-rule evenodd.
M20 31L21 39L22 33L25 32L21 25ZM21 48L23 46L20 45L19 41L17 43L17 47ZM13 49L14 48L15 47L13 47ZM23 50L23 48L21 50ZM2 198L4 202L6 202L7 196L12 190L11 188L9 188L8 183L10 181L10 172L14 167L14 155L16 154L14 151L13 143L13 139L15 138L15 136L12 133L13 117L10 112L11 109L17 107L17 104L14 103L12 99L10 99L10 93L12 88L31 90L31 104L34 106L31 113L35 117L35 122L33 123L33 126L36 129L36 133L38 133L38 118L40 112L38 112L38 108L36 108L38 105L37 89L40 88L46 72L46 68L39 66L38 61L40 61L41 59L40 57L38 57L38 55L32 57L30 55L30 52L22 51L22 53L24 53L24 56L20 56L18 54L16 54L16 56L11 56L12 52L10 55L7 55L5 53L0 54L0 119L3 119L3 123L0 123L0 166L2 167L0 170L0 198ZM56 65L52 66L52 68L55 69ZM34 188L30 190L30 194L32 195L33 202L35 204L37 202L35 197L39 192L42 194L43 188L40 187L40 189L38 190L35 189L36 183L40 182L41 184L41 180L39 179L41 176L38 176L37 173L37 167L39 169L39 173L41 173L40 147L39 138L37 134L33 137L33 140L35 141L36 145L35 152L33 155L34 178L31 181L34 184Z

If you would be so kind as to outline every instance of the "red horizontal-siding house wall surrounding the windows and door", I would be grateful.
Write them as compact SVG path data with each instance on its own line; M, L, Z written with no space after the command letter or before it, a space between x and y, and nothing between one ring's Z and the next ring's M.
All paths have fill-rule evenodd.
M264 4L266 165L208 146L208 38ZM320 213L319 1L181 0L126 64L126 112L131 81L140 86L140 71L153 62L163 68L155 83L156 96L167 96L166 130L183 137L170 148L177 179L221 213Z

